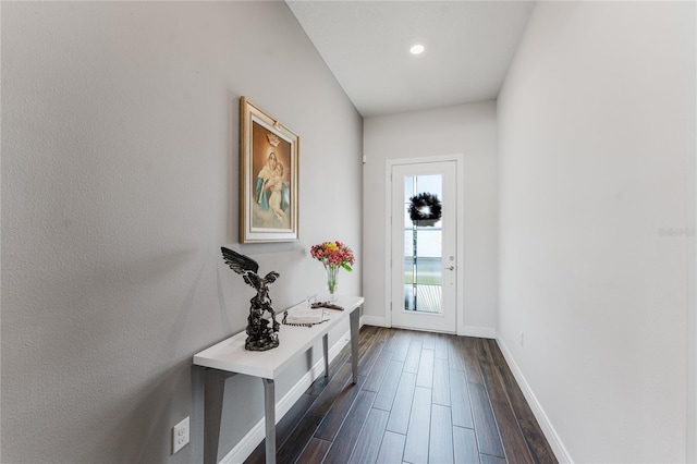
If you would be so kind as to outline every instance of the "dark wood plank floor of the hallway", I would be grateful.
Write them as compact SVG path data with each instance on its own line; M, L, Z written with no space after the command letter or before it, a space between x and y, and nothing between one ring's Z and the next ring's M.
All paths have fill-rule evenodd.
M496 341L366 326L357 384L350 356L277 425L278 463L557 462Z

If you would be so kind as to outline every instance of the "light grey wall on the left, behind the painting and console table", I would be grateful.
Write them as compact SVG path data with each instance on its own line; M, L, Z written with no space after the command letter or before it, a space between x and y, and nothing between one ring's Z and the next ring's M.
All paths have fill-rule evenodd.
M360 259L362 118L283 2L1 8L2 462L200 462L192 355L254 294L220 245L281 273L277 308L322 290L314 243ZM241 95L301 136L298 243L235 244ZM262 417L258 379L229 387L221 456Z

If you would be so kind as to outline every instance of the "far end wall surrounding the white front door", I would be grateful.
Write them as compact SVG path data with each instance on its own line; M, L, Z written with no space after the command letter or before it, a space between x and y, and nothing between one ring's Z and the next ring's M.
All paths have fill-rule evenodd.
M496 103L366 118L364 122L364 315L389 323L386 303L386 160L462 155L464 162L464 320L467 333L493 337L497 305ZM460 232L463 233L463 232Z

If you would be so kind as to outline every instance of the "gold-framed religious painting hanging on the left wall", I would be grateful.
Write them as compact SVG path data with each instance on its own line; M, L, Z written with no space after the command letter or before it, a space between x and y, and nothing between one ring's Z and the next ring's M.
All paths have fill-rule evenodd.
M240 242L298 237L298 136L240 98Z

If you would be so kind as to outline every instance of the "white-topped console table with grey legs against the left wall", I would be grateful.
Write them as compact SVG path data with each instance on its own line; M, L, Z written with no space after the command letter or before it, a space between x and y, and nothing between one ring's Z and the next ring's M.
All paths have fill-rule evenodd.
M245 332L237 333L194 355L194 364L206 367L204 411L204 463L218 462L218 443L225 379L235 374L259 377L264 383L264 412L266 420L266 462L276 464L276 391L274 379L299 355L307 352L320 338L325 357L325 377L329 373L328 334L346 318L351 326L351 361L353 382L358 381L358 329L360 296L338 296L333 304L344 310L325 309L327 322L311 327L295 327L281 323L280 345L269 351L246 351ZM280 321L282 312L277 314Z

